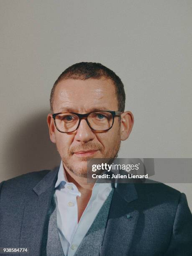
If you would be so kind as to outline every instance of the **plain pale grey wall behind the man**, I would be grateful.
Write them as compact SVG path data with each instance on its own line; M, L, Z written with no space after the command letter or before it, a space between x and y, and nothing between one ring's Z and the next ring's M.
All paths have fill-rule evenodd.
M120 157L192 157L191 0L1 0L0 24L0 181L59 164L49 95L79 61L125 84L135 125ZM192 209L192 184L170 185Z

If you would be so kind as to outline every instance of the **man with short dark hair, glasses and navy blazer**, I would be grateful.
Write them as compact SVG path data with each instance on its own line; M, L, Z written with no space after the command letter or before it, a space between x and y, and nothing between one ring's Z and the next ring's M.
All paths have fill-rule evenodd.
M117 157L133 127L120 78L98 63L74 64L50 103L61 164L0 184L0 247L33 256L192 255L184 194L160 183L87 183L87 160Z

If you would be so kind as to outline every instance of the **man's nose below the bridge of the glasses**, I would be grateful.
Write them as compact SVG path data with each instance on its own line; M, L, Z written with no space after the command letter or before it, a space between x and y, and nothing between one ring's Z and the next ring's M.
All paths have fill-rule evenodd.
M91 130L87 121L82 119L74 136L74 140L86 143L92 141L94 138L95 133Z

